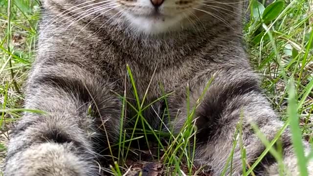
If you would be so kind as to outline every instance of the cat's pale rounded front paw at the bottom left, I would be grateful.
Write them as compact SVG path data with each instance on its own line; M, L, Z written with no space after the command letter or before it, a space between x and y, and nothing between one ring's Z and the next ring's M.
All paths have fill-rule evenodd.
M19 151L8 158L4 176L95 176L70 145L46 142Z

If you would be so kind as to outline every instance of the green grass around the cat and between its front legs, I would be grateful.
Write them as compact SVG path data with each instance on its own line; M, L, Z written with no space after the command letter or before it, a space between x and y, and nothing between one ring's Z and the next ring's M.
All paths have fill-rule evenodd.
M307 162L312 158L304 155L301 138L313 143L313 2L310 0L276 0L267 8L255 0L249 3L249 22L245 23L244 39L246 50L250 56L252 66L263 75L262 87L268 95L272 107L281 114L285 121L284 127L278 132L272 141L259 132L257 126L253 126L258 137L266 145L266 150L251 166L246 165L244 176L254 175L253 169L260 163L261 159L269 152L278 161L280 173L284 175L284 163L282 156L272 146L279 140L281 133L290 127L292 143L298 158L299 172L301 176L307 176ZM24 94L21 93L27 77L27 72L34 61L37 22L39 15L39 2L37 0L4 0L0 1L0 157L3 158L6 151L6 140L12 123L21 118ZM135 80L131 69L128 67L134 92ZM208 83L209 86L209 83ZM148 88L149 89L149 88ZM149 93L147 89L146 94ZM144 99L136 97L136 105L126 100L126 94L119 95L123 102L121 119L124 119L125 107L133 108L137 114L134 116L134 129L120 129L118 144L112 144L111 148L117 148L117 157L112 157L114 165L107 172L115 176L122 176L131 172L132 166L127 164L130 154L139 154L132 149L131 144L138 139L149 143L148 135L157 140L157 152L155 159L160 160L166 168L170 168L180 176L195 175L200 173L201 168L195 171L193 161L195 148L193 140L196 138L193 114L196 107L188 106L188 118L179 134L173 133L168 127L168 133L153 130L146 122L142 111ZM159 99L166 102L165 94ZM201 98L200 98L201 99ZM198 104L201 101L198 101ZM167 102L165 103L168 107ZM150 106L150 105L149 105ZM168 108L167 108L168 109ZM36 113L41 113L34 111ZM91 112L90 112L91 113ZM168 118L164 113L161 120ZM123 123L123 121L121 121ZM137 129L137 125L143 129ZM164 124L162 124L164 125ZM130 134L128 139L126 133ZM241 124L238 124L234 132L234 147L227 159L224 172L232 170L232 157L235 146L239 144L242 161L246 163L246 150L241 140ZM162 139L166 137L165 143ZM148 153L153 153L149 148ZM118 162L117 162L118 161ZM181 168L182 163L185 169Z

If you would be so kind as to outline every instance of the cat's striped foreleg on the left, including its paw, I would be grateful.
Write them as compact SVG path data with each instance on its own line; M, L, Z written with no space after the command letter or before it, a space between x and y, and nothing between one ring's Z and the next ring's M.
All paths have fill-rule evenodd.
M10 135L4 175L98 176L94 147L106 142L92 141L104 128L110 139L119 129L120 101L111 88L74 64L36 65L25 108L46 114L23 115Z

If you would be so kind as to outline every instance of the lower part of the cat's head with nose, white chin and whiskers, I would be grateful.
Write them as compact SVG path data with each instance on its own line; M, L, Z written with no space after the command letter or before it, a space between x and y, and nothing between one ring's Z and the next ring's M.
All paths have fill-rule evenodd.
M101 15L106 16L107 21L104 22L104 25L109 25L114 21L124 21L128 27L136 32L149 35L179 31L186 28L198 30L208 23L211 25L220 23L231 27L231 22L236 16L240 16L242 5L242 1L239 0L54 1L57 3L67 2L67 5L70 4L64 6L67 9L83 7L89 9L87 14L93 14L92 16L95 18L99 18L98 15L101 13Z

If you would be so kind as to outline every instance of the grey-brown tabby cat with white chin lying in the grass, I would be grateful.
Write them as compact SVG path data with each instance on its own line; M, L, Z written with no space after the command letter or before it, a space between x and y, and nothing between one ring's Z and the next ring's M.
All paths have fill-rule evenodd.
M207 165L212 176L221 175L242 116L246 162L253 164L266 147L250 124L272 140L284 123L244 51L242 11L239 0L42 0L24 107L46 113L25 112L16 124L4 175L98 176L98 147L119 136L123 104L117 94L124 90L134 105L136 97L145 97L148 105L173 92L166 98L171 119L165 123L174 132L186 121L187 100L193 107L204 92L194 115L195 162ZM143 112L157 129L162 122L152 109L162 111L164 102ZM130 119L134 112L127 110ZM286 170L299 175L289 129L281 141ZM303 144L308 154L310 146ZM312 162L308 169L313 175ZM278 176L278 171L267 154L255 174ZM242 172L238 146L225 175Z

